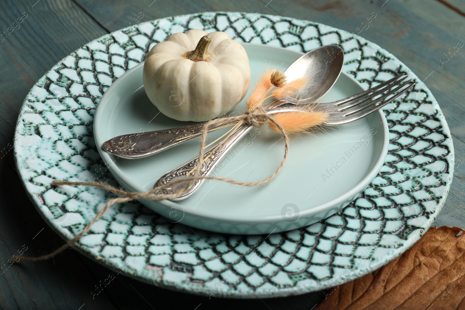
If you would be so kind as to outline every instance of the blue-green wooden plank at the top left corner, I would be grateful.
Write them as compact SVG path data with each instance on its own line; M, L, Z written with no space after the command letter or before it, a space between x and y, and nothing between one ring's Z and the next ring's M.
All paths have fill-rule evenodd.
M0 33L8 34L0 42L0 92L16 112L29 89L48 69L107 33L69 0L39 1L34 6L31 2L0 2ZM21 23L18 18L23 19Z

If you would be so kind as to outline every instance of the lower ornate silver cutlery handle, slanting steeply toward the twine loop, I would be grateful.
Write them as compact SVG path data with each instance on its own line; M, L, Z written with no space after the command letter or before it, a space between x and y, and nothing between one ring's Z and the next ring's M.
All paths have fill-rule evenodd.
M306 112L306 109L299 109L295 107L286 107L286 108L278 108L278 109L270 109L267 111L268 114L276 114L276 113L282 113L282 112L292 112L292 111L297 111L297 112ZM207 176L210 173L213 172L215 167L219 164L221 159L225 157L225 155L231 151L236 145L251 129L252 125L246 125L243 124L241 125L229 138L225 139L223 143L216 149L214 152L213 150L218 146L215 145L213 146L210 150L206 151L204 153L204 161L202 165L200 166L200 176ZM213 154L212 154L213 152ZM193 169L197 166L199 161L199 157L197 156L196 158L188 161L186 164L179 166L176 169L173 169L172 171L169 171L166 173L163 177L159 178L158 181L155 183L153 187L160 186L160 185L165 185L172 181L175 178L179 177L186 177L193 173ZM181 200L190 197L193 195L196 191L199 190L200 186L205 182L206 179L199 179L193 182L184 192L181 196L178 198L172 198L171 200ZM181 182L178 184L175 184L171 187L165 188L163 190L156 191L155 194L172 194L174 192L179 191L182 187L186 185L186 182Z

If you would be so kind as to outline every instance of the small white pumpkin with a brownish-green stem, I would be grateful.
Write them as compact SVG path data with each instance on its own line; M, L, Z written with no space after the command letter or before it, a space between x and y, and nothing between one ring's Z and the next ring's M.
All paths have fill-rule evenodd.
M160 112L177 120L206 121L231 111L244 98L249 59L227 33L193 29L153 46L143 79Z

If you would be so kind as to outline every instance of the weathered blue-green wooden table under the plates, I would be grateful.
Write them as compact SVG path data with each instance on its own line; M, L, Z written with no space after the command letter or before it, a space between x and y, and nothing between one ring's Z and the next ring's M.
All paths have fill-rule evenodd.
M465 2L463 0L166 1L2 0L0 2L0 265L14 251L39 256L63 240L40 217L13 161L13 131L29 89L60 59L87 42L129 26L203 11L283 15L355 32L393 53L423 79L452 132L455 173L437 225L465 228ZM140 15L142 14L142 15ZM360 29L360 28L359 28ZM92 296L109 271L73 250L0 271L2 309L312 309L324 292L264 300L208 299L120 276ZM434 307L432 308L434 309Z

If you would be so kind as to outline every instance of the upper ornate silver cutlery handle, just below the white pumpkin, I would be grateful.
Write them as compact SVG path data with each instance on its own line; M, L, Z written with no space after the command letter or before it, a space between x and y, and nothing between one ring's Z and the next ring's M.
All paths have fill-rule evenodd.
M225 121L224 123L211 127L209 131L234 123L233 121ZM204 123L198 123L152 132L126 134L106 141L103 144L103 149L106 152L122 158L143 158L198 137L202 134L203 129Z

